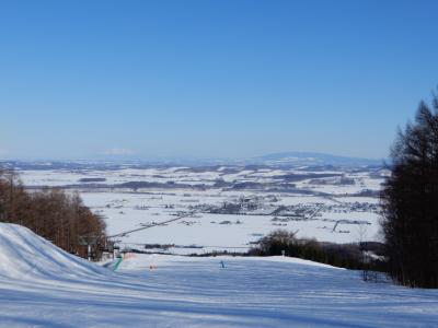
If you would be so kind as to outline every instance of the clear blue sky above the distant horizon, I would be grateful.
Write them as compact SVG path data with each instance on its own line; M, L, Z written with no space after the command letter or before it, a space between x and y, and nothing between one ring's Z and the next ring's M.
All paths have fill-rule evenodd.
M0 1L0 157L384 157L438 1Z

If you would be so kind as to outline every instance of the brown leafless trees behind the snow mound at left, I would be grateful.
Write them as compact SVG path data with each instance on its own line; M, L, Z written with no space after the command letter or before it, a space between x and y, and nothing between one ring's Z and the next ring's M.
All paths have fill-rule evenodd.
M59 188L26 190L14 171L0 169L0 222L28 227L66 251L99 259L105 245L105 222L85 207L78 192Z

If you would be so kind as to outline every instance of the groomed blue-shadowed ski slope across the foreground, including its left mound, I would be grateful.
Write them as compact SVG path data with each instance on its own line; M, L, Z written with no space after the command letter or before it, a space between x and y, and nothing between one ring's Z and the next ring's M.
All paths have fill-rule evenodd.
M128 255L113 272L0 223L1 327L437 324L437 290L366 283L357 271L283 257Z

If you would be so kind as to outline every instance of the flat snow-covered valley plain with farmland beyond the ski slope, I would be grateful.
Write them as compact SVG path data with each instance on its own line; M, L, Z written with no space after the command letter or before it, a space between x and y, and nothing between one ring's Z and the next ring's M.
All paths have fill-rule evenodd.
M172 254L246 251L277 229L321 242L379 241L377 195L385 174L265 166L20 171L26 186L79 190L122 247L163 245L155 250Z

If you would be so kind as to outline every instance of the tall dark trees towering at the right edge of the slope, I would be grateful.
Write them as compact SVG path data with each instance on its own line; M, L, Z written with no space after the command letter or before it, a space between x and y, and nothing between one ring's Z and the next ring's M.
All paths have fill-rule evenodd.
M388 269L400 284L438 288L438 97L399 130L381 194Z

